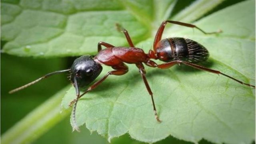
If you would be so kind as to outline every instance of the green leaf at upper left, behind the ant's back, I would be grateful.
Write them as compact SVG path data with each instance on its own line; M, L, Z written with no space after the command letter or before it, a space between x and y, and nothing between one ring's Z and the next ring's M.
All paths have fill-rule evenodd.
M150 9L149 7L148 9ZM129 30L134 41L145 39L144 24L117 1L2 2L1 39L8 41L2 52L19 56L53 57L95 53L98 41L126 43L115 23Z

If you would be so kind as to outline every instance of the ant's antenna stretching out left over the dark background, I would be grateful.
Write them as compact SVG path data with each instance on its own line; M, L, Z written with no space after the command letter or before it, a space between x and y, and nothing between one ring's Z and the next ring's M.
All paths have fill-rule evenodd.
M23 86L21 86L21 87L18 87L18 88L16 88L16 89L13 89L12 91L9 91L9 93L10 93L10 94L11 94L11 93L15 93L15 92L17 92L17 91L20 91L20 90L22 90L22 89L25 89L26 87L29 87L30 85L34 85L35 83L37 83L38 81L41 81L42 79L46 79L47 77L50 77L50 76L55 75L55 74L58 74L58 73L64 73L64 72L66 72L66 71L70 71L70 69L65 69L65 70L54 71L54 72L52 72L52 73L48 73L48 74L46 74L46 75L40 77L39 79L36 79L35 81L32 81L31 83L28 83L28 84L26 84L26 85L23 85Z

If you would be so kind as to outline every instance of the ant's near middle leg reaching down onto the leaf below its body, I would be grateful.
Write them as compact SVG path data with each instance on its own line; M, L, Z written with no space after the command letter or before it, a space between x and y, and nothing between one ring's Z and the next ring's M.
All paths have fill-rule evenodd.
M144 66L143 66L142 63L138 63L138 64L136 64L136 66L139 68L140 75L141 75L141 77L142 77L142 79L143 79L143 81L146 85L146 89L148 90L149 95L151 96L151 100L152 100L152 103L153 103L154 114L155 114L156 120L158 122L161 122L161 120L158 118L158 115L157 115L157 112L156 112L156 106L155 106L155 103L154 103L153 93L150 89L150 86L148 85L148 81L146 79L146 71L144 69Z

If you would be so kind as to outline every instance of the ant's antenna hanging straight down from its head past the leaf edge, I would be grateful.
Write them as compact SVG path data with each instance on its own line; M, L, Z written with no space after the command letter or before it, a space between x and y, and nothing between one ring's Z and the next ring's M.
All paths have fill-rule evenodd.
M76 100L72 110L72 127L73 127L73 131L76 130L80 132L79 127L77 126L77 123L76 123L76 105L77 105L78 99L80 98L80 90L76 81L76 76L74 77L74 86L76 89Z

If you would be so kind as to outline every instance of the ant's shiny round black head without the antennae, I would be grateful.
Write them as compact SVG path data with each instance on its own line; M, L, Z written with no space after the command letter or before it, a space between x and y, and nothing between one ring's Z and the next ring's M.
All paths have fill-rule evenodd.
M91 55L83 55L74 61L70 71L72 83L76 77L78 87L84 88L100 75L102 66L96 63Z

